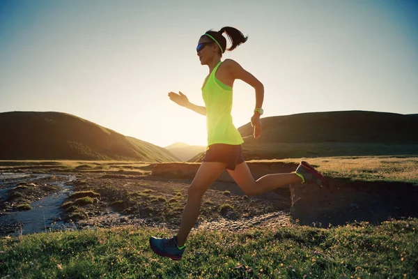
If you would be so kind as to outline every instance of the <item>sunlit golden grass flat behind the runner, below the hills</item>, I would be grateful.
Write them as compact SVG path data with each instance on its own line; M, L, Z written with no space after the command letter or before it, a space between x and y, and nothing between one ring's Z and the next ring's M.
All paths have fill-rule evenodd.
M326 176L336 179L399 181L418 184L418 157L416 156L344 156L248 160L247 162L300 163L301 160L307 160ZM114 160L0 160L0 172L6 172L11 169L49 169L52 172L127 172L132 174L150 174L153 165L155 163Z

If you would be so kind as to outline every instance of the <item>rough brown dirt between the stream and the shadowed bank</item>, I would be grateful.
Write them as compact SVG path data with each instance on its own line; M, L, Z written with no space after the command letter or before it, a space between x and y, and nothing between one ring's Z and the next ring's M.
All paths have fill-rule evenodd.
M77 205L75 198L67 199L64 218L68 220L82 220L91 223L109 223L108 214L120 214L124 223L134 223L134 219L141 219L144 223L165 223L168 227L180 225L180 219L187 201L187 188L191 183L188 179L155 179L153 176L108 176L101 174L84 174L74 183L74 192L91 191L97 193L91 204ZM229 195L225 195L225 193ZM100 195L100 196L99 196ZM222 206L229 204L229 209ZM199 223L216 223L224 220L239 220L249 223L250 218L263 216L268 213L282 213L287 216L290 211L291 199L288 188L277 193L269 193L254 198L248 198L234 183L216 182L203 196ZM70 212L71 211L71 212ZM100 218L98 218L100 217ZM110 218L112 219L112 218ZM132 222L131 222L132 220ZM226 224L226 223L222 223ZM212 226L213 227L213 226ZM247 225L240 225L247 227Z

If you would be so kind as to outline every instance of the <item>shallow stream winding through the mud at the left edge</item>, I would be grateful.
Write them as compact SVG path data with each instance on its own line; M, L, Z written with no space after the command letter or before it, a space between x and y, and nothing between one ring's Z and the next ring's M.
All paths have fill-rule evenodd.
M36 181L49 176L52 175L0 173L0 199L4 199L7 191L14 188L20 181ZM32 209L29 211L2 212L0 223L21 224L17 231L8 235L19 236L20 234L33 234L49 231L49 229L65 229L74 226L70 223L64 223L60 218L60 213L62 202L72 193L72 186L68 186L66 183L75 180L75 176L58 174L54 174L54 176L61 176L62 180L48 184L60 186L61 190L59 192L49 193L47 197L32 202Z

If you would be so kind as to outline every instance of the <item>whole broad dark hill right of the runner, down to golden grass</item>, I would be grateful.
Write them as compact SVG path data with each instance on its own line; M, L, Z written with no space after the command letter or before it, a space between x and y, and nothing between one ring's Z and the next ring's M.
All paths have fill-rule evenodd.
M261 123L258 140L250 123L238 128L246 160L418 154L417 114L313 112L265 117Z

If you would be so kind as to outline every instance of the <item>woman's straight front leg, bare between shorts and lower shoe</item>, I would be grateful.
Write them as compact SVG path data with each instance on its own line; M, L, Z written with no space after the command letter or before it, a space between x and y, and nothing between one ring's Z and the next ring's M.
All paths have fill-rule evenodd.
M187 190L187 204L183 210L180 229L176 235L177 245L184 246L189 232L199 217L203 194L226 168L225 163L203 162Z

